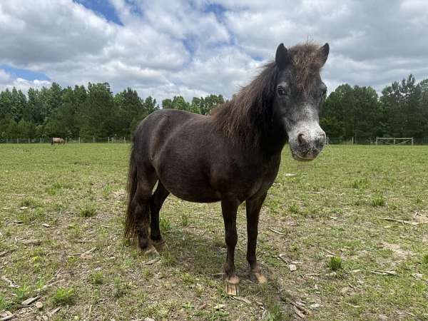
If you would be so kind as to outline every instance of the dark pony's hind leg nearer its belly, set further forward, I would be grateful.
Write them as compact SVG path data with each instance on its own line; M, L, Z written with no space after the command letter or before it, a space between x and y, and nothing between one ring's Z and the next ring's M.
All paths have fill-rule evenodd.
M161 247L164 243L161 230L159 229L159 211L162 208L163 202L169 195L169 191L163 186L161 180L158 180L158 186L155 193L150 198L150 238L156 247Z

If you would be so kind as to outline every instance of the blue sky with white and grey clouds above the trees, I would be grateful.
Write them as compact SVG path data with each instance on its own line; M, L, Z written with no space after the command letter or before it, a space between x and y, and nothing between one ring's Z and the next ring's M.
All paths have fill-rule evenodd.
M1 0L0 90L108 82L161 101L230 98L280 43L330 44L342 83L428 78L426 0Z

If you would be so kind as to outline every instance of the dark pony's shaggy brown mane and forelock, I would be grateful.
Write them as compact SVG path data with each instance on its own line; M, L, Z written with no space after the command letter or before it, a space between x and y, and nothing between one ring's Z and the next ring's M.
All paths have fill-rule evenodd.
M322 68L324 61L317 56L317 49L320 46L312 42L288 49L298 90L304 91L315 73ZM234 141L260 143L260 138L266 135L272 122L272 103L279 74L275 61L265 64L248 86L212 111L216 128Z

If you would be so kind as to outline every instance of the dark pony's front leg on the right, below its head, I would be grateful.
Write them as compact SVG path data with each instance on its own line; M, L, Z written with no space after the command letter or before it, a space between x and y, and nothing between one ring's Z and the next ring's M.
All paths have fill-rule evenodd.
M260 266L257 263L255 256L255 249L257 248L258 236L258 219L260 208L262 208L265 201L266 193L258 198L248 199L245 208L247 209L247 260L250 264L250 278L254 282L265 283L267 282L265 275L263 275Z

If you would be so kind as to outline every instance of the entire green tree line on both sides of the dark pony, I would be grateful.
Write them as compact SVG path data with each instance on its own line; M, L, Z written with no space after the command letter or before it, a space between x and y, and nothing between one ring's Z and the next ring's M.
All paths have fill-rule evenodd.
M190 102L174 96L161 106L207 115L224 101L213 94ZM108 83L74 88L52 83L29 88L27 95L6 89L0 92L0 139L131 136L159 108L155 98L141 98L131 88L113 95ZM428 79L417 83L409 75L386 86L381 96L370 86L340 85L325 98L320 123L335 138L428 137Z

